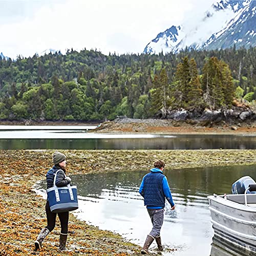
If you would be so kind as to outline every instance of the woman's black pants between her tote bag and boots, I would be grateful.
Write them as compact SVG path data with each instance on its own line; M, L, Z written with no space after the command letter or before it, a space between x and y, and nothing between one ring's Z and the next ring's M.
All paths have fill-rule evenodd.
M56 216L58 215L60 220L60 226L61 226L61 233L67 234L68 233L68 223L69 223L69 212L58 212L55 214L54 212L51 212L49 201L46 202L46 216L47 216L47 229L51 232L56 223Z

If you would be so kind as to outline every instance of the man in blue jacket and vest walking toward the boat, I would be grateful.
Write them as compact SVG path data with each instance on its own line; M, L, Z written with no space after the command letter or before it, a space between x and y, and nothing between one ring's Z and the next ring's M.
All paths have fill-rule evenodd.
M147 212L150 215L153 228L147 235L144 246L141 250L142 254L148 253L148 248L156 239L158 250L162 251L160 230L163 225L165 198L172 206L171 210L175 209L175 204L170 193L170 188L166 177L163 175L164 161L158 160L154 162L154 168L146 174L140 184L140 195L144 198Z

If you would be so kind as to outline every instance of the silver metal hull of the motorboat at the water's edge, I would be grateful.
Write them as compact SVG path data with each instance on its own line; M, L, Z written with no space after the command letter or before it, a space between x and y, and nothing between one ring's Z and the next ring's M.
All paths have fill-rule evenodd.
M256 254L256 208L219 196L210 196L208 200L215 238Z

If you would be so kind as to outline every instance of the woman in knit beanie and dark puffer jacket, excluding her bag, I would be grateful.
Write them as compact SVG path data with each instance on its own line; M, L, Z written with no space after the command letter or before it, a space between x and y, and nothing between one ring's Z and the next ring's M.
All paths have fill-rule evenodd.
M53 187L54 176L57 170L62 170L57 173L56 176L56 186L62 187L67 186L70 184L71 178L65 177L66 174L66 156L58 151L54 152L53 154L53 163L54 166L47 172L46 174L46 181L47 181L47 188ZM40 231L38 238L35 241L35 249L41 249L42 241L48 236L48 234L54 229L56 223L56 216L58 215L60 220L60 236L59 236L59 249L60 251L67 250L66 243L68 237L68 223L69 223L69 212L58 212L53 213L50 210L49 201L47 199L46 202L46 216L47 216L47 226L42 228Z

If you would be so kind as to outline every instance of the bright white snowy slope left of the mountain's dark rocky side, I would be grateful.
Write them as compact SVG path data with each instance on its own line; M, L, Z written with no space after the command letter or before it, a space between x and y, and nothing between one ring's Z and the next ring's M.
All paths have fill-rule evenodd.
M217 38L220 31L224 32L227 27L230 27L231 20L235 20L244 9L250 6L251 2L255 1L215 1L201 16L188 17L182 25L172 26L159 33L145 47L144 53L178 52L185 47L202 49L206 47L206 42L209 46Z

